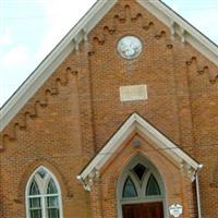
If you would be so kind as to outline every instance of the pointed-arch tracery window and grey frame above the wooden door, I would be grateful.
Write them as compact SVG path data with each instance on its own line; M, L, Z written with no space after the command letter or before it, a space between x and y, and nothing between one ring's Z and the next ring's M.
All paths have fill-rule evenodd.
M118 213L131 204L161 203L165 207L165 187L157 169L137 155L125 167L118 182Z

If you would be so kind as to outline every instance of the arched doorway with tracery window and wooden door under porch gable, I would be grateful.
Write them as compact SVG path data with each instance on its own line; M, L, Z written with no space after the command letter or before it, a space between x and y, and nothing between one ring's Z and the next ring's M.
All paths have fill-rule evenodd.
M118 183L119 218L164 218L165 185L157 169L137 155Z

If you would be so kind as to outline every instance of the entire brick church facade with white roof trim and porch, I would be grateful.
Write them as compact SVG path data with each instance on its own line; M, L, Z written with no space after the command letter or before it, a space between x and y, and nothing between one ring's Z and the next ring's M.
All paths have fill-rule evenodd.
M0 217L217 218L217 64L161 1L98 1L1 109Z

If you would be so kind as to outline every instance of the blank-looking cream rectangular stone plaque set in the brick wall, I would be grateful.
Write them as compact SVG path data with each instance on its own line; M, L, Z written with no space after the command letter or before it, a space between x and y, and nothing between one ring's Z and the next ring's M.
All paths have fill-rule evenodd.
M131 85L120 87L120 100L146 100L147 99L147 86L146 85Z

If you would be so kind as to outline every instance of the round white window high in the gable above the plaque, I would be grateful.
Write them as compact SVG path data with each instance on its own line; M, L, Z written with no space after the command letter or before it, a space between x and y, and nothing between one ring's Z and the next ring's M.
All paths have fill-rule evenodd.
M132 60L140 56L143 50L142 40L132 35L122 37L118 41L118 51L120 56L124 59Z

